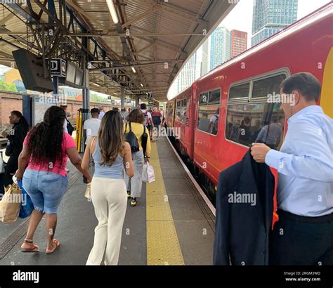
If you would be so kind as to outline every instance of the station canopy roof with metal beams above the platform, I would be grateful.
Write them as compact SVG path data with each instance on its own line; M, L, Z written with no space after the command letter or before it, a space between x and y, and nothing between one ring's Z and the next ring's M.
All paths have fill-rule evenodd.
M94 91L119 96L124 86L128 98L152 92L155 100L165 101L185 60L235 6L230 2L3 1L0 63L13 67L12 51L25 48L88 67Z

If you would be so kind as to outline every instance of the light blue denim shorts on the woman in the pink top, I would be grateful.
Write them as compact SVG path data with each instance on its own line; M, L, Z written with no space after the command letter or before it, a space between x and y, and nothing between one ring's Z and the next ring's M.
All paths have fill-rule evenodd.
M58 214L61 199L67 190L67 176L26 169L22 184L32 199L34 209L46 214Z

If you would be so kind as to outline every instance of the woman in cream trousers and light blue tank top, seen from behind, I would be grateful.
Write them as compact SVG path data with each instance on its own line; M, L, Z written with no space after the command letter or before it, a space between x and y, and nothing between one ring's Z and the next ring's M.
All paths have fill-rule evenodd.
M91 155L95 162L91 201L98 225L86 265L100 265L103 257L105 265L117 265L127 203L124 170L130 178L134 175L131 147L124 140L118 111L105 113L98 136L86 146L82 167L89 168Z

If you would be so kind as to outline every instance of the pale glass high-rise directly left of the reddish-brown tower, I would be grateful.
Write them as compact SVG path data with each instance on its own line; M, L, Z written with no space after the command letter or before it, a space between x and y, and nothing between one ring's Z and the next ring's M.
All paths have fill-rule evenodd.
M231 34L223 27L217 27L211 34L210 70L231 58Z

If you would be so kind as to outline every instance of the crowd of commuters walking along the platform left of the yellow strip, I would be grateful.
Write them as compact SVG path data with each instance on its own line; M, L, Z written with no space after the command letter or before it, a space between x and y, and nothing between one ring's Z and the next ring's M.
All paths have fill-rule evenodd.
M1 133L8 138L6 156L9 159L4 174L1 174L0 188L4 192L5 187L13 184L14 175L22 181L34 204L22 251L39 251L33 240L34 233L45 216L46 254L51 254L60 245L55 238L55 228L60 202L67 191L66 166L67 159L70 159L86 183L91 183L91 201L98 219L93 248L86 264L99 265L103 258L105 265L117 264L127 199L131 199L132 207L136 206L141 197L143 164L150 158L145 114L140 109L122 110L121 113L117 108L108 112L91 109L91 117L83 125L86 137L83 159L70 136L72 125L67 117L70 117L67 106L49 107L44 120L29 130L22 113L11 112L12 129ZM124 134L129 129L138 139L137 152L132 153L125 140ZM147 136L144 145L143 135ZM89 174L91 162L93 177Z

